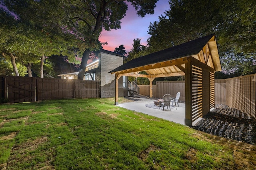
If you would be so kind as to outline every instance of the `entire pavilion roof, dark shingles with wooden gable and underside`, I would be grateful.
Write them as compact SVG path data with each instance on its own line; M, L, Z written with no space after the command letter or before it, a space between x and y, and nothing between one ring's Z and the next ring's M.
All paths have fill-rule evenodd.
M167 66L164 64L164 62L190 56L198 59L202 63L206 63L214 68L215 71L221 70L215 35L211 34L187 43L176 45L162 51L133 59L115 68L109 73L124 74L146 70L146 72L150 75L162 74L162 76L164 76L165 74L166 76L166 74L170 75L170 73L176 73L172 74L172 76L177 76L179 74L184 75L183 68L185 68L185 64L179 62L178 66ZM154 66L157 63L160 63L160 65L162 63L162 67ZM162 70L159 70L160 68L162 68Z

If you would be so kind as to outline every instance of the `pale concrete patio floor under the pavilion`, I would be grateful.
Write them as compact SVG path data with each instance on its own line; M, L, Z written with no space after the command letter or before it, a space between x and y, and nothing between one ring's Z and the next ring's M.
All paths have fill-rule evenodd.
M154 108L145 106L146 104L154 104L154 101L156 99L149 99L145 96L141 96L140 98L136 98L136 99L138 101L119 104L118 106L185 125L185 120L184 120L185 104L184 103L179 103L179 107L174 105L174 107L171 107L171 110L169 108L167 109L166 107L164 107L164 110L163 110L162 107L161 109L154 109ZM193 125L195 125L198 121L200 121L200 119L201 118L193 122Z

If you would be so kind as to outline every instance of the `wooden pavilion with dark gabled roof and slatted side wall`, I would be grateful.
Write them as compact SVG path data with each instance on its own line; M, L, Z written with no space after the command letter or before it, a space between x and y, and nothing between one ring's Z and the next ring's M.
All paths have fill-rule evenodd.
M185 124L204 116L214 107L214 73L221 71L214 34L189 41L156 53L133 59L109 73L115 74L115 104L118 105L118 79L121 76L145 77L152 82L156 77L185 75ZM146 71L146 74L139 74Z

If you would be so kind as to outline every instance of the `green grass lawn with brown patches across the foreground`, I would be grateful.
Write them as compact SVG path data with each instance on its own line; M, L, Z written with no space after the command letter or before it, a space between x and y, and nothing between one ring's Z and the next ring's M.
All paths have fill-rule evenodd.
M92 98L0 105L0 169L256 169L255 145L113 104Z

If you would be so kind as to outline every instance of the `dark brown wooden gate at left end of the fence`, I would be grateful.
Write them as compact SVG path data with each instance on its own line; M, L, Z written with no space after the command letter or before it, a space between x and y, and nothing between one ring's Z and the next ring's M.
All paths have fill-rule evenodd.
M36 78L4 76L4 98L11 103L36 101Z

